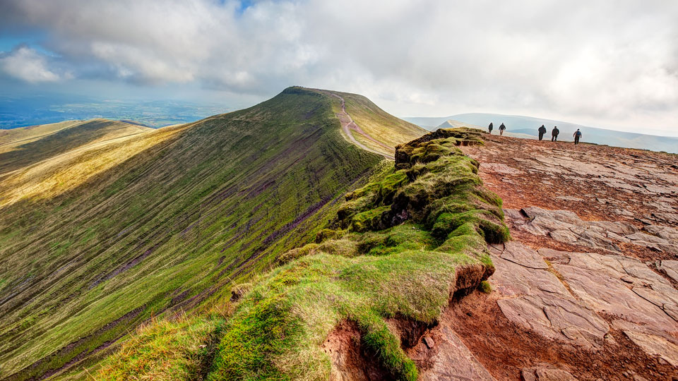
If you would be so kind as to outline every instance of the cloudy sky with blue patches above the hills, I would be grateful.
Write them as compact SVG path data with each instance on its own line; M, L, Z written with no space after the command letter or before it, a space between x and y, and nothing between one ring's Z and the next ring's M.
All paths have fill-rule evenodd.
M302 85L678 135L676 20L675 0L2 0L0 95L237 109Z

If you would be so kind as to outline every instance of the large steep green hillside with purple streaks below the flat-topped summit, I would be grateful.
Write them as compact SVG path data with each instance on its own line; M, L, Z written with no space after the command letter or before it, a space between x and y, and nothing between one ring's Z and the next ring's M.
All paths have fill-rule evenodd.
M94 361L151 315L228 295L313 238L383 159L342 137L338 109L326 92L290 87L250 109L69 150L37 181L26 164L19 172L36 183L23 193L6 186L17 178L3 179L0 377ZM392 116L371 121L375 109L364 99L347 107L371 131L412 133ZM92 168L102 152L109 159ZM73 162L83 164L75 186L71 175L54 179ZM26 197L36 188L52 191Z

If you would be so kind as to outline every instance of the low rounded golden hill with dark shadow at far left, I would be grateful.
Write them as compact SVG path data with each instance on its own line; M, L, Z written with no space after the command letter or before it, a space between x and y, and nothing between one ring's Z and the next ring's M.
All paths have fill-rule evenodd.
M153 128L105 119L67 121L0 131L0 178L9 171L28 167L78 147L150 131Z

